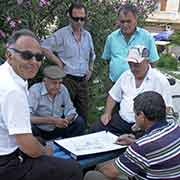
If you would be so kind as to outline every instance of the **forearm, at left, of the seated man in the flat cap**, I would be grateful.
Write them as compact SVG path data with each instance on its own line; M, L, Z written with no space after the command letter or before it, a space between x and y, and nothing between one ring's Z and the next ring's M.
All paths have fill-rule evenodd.
M31 115L31 122L33 124L55 124L54 118L51 116L33 116Z

